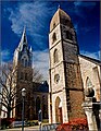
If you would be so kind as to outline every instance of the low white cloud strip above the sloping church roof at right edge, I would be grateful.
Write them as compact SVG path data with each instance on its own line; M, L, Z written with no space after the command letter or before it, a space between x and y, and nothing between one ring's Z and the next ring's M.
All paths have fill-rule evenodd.
M93 58L93 59L98 59L98 60L100 59L100 51L89 52L89 51L81 50L80 53L84 55L84 56Z

